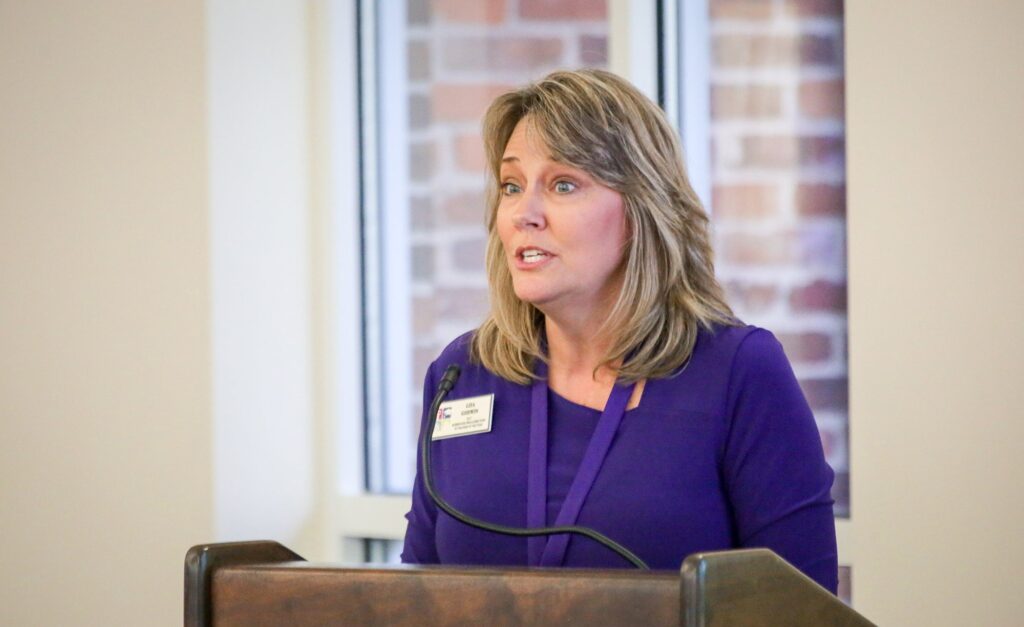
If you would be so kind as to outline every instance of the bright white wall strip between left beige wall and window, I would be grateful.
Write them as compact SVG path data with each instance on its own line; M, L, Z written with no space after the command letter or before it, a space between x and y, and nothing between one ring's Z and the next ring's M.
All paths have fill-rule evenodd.
M306 2L208 0L214 537L313 559L314 419ZM318 416L317 416L318 417ZM325 443L326 444L326 443ZM325 447L326 448L326 447Z

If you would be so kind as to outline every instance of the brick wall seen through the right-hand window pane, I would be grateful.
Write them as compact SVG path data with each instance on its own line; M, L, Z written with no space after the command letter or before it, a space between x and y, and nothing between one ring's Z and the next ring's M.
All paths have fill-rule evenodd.
M849 511L842 0L711 0L718 275L775 332Z

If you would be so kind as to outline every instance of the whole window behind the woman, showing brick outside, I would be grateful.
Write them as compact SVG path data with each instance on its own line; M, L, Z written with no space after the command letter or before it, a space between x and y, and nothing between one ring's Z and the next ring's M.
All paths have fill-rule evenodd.
M352 267L361 282L352 293L361 357L348 359L365 373L351 387L365 407L365 447L354 451L356 429L342 429L365 460L353 469L354 492L408 493L426 367L484 315L480 116L508 87L596 66L658 98L682 129L691 178L713 215L719 277L736 312L785 346L837 470L837 513L846 515L842 2L358 7L359 80L351 80L361 94L361 262ZM407 497L346 498L342 510L355 513L342 517L376 521L342 524L343 534L400 537ZM375 541L357 558L395 554Z

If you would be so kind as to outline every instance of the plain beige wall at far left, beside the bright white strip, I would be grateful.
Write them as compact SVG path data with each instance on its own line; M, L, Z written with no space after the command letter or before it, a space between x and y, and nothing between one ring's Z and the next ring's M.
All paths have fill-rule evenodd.
M211 537L204 4L0 2L0 623L180 624Z

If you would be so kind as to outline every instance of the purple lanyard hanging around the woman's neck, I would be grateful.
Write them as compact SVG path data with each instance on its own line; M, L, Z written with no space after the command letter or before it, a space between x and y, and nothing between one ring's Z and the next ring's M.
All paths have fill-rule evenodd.
M545 527L548 514L548 381L547 366L538 368L539 379L534 381L530 399L529 420L529 466L526 475L526 526ZM604 405L604 411L597 422L594 434L587 445L580 469L577 470L565 501L555 519L556 527L575 525L580 509L594 486L601 464L611 448L611 441L618 430L618 424L626 415L626 406L633 395L634 384L614 385ZM527 538L529 566L561 566L568 548L570 534L538 536Z

